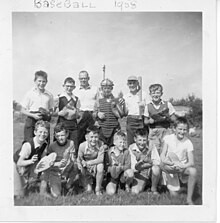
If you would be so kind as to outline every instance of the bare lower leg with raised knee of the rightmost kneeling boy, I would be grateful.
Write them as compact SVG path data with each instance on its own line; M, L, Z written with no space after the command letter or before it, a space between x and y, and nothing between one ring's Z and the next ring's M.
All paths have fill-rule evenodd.
M196 184L197 171L194 167L189 167L186 169L185 173L189 175L188 188L187 188L187 198L186 201L188 204L194 204L192 201L192 195Z

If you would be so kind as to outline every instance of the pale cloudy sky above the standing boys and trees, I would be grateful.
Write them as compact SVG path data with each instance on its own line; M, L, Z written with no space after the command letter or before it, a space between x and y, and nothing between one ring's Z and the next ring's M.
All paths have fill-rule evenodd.
M79 85L87 70L97 87L103 77L113 93L128 92L127 78L141 76L143 90L161 83L163 98L202 98L200 12L13 12L13 99L34 86L34 73L48 73L54 96L66 77Z

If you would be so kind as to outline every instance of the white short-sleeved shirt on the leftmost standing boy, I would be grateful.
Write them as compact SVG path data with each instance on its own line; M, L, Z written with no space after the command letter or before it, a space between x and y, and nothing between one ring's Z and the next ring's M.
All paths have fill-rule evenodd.
M49 111L54 106L53 95L47 90L39 92L34 87L26 93L21 105L28 111L38 111L40 107Z

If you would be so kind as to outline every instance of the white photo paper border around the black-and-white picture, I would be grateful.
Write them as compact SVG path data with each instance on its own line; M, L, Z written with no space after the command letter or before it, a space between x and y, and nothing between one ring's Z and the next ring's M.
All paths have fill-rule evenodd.
M129 1L129 0L127 0ZM201 11L203 14L203 204L198 206L71 206L18 207L13 200L13 125L12 125L12 12L39 12L34 0L1 2L0 63L2 73L0 167L0 221L215 221L217 176L217 65L216 65L216 1L215 0L136 0L135 9L124 11ZM81 1L80 1L81 2ZM96 9L78 11L120 11L114 0L91 0ZM126 2L123 1L123 2ZM41 9L45 12L70 9ZM75 9L74 9L75 11ZM123 13L123 12L122 12ZM7 93L7 94L6 94ZM211 173L211 174L210 174ZM1 181L2 182L2 181ZM39 214L40 213L40 214ZM85 214L86 213L86 214ZM102 213L97 215L97 213ZM109 213L114 213L113 215Z

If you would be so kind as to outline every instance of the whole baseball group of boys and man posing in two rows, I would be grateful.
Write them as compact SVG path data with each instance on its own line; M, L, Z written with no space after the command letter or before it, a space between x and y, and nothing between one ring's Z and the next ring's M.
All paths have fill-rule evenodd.
M34 176L33 170L43 156L55 152L55 162L40 176L42 194L49 184L51 194L59 196L61 176L68 179L67 186L71 188L79 175L87 191L92 191L95 178L95 193L101 195L104 173L109 176L108 194L116 193L120 182L125 184L126 191L137 194L144 190L149 179L151 192L158 194L162 170L164 184L172 195L180 189L179 179L188 181L187 203L193 204L196 169L193 145L186 137L188 123L185 118L176 117L170 102L161 99L160 84L149 87L152 100L146 103L146 99L139 100L137 77L130 76L127 79L130 92L115 98L111 80L104 79L98 89L89 84L88 72L81 71L80 87L75 89L74 79L68 77L63 83L63 93L53 99L45 89L47 78L46 72L37 71L35 87L21 102L21 112L27 119L24 142L14 156L21 184ZM54 142L49 143L51 116L58 119ZM118 119L122 116L127 117L127 133L120 130ZM174 134L169 130L171 123ZM15 195L23 193L15 191Z

